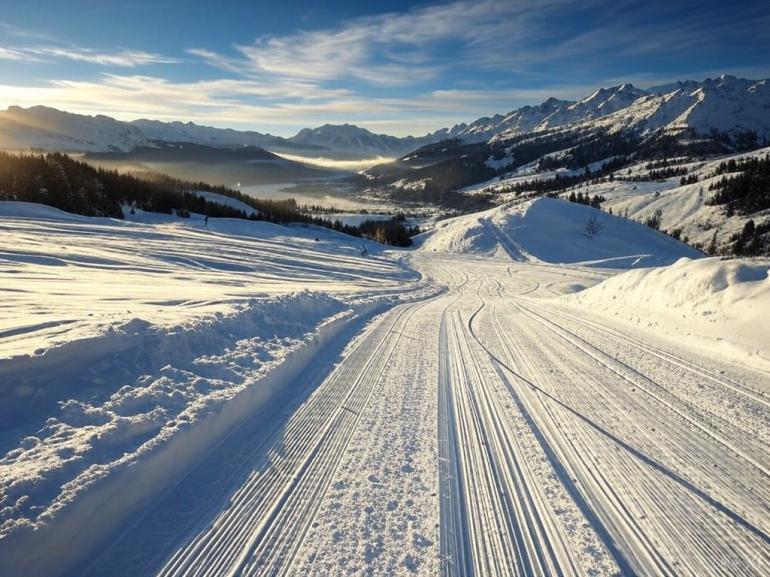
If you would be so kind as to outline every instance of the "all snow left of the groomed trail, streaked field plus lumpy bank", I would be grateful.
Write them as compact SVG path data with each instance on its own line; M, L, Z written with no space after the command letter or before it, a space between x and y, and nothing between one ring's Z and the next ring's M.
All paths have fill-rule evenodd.
M0 203L0 534L14 543L82 519L169 447L194 463L243 418L222 417L235 399L417 280L380 245L317 227L129 218ZM163 484L145 489L113 522Z

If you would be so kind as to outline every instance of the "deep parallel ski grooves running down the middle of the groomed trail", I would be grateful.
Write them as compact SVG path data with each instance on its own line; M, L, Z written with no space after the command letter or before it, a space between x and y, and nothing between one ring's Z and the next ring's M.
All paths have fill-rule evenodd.
M479 298L482 284L476 290ZM482 299L478 310L483 306ZM485 371L471 348L470 322L466 326L459 312L450 313L442 342L446 339L450 354L451 370L445 378L451 377L453 386L447 387L447 406L454 411L457 436L455 461L448 469L458 475L453 495L462 494L464 499L454 512L465 515L453 528L464 523L467 531L464 539L456 534L448 537L455 547L469 542L471 559L468 563L463 556L442 574L580 575L540 483L522 458L503 398L491 389L495 371L492 367Z

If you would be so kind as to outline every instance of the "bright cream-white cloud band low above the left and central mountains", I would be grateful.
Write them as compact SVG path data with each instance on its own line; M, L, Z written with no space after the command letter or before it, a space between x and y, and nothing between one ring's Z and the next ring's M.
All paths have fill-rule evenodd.
M172 82L140 75L106 74L98 81L55 80L43 85L0 85L0 107L46 105L81 114L192 120L216 126L285 127L290 133L319 119L380 126L396 134L435 129L449 119L469 119L482 97L452 98L427 92L378 98L287 79ZM379 124L378 124L379 123Z

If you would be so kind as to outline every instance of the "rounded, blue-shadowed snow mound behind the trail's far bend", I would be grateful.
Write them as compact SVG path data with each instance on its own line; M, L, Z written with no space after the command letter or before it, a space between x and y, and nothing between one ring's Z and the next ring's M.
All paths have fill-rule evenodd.
M606 268L660 266L701 253L639 223L553 198L439 223L425 251Z

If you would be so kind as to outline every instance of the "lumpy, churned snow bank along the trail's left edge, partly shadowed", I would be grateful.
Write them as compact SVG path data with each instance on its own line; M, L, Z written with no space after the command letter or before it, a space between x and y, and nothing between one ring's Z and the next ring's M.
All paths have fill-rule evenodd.
M164 329L135 319L103 339L119 345L74 341L53 361L0 364L3 429L26 434L0 459L0 537L44 523L115 468L219 410L348 310L313 293L239 309Z

